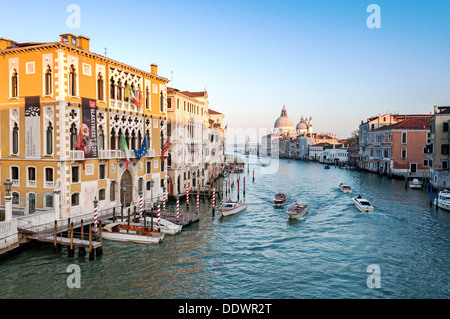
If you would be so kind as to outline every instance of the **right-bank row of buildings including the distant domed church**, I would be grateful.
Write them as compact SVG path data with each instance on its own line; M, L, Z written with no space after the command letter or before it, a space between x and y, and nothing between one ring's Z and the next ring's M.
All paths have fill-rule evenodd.
M378 114L362 120L352 138L315 133L312 118L294 128L287 110L263 136L259 153L336 164L389 177L419 179L435 188L450 186L450 107L428 114Z

